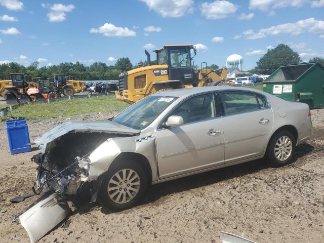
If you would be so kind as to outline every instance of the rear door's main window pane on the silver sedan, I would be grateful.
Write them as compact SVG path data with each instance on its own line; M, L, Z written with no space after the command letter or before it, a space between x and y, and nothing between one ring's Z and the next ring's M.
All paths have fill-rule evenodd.
M221 92L225 115L236 114L259 109L254 93L250 92Z

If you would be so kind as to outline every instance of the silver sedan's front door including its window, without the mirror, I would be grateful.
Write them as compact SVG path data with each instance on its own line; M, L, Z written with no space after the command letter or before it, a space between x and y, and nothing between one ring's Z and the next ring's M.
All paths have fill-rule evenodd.
M183 117L184 125L156 131L161 179L224 164L224 128L216 117L213 94L189 98L169 115Z

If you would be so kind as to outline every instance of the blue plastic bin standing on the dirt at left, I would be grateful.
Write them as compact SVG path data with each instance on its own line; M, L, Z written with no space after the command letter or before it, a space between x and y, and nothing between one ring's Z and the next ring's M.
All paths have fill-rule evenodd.
M31 151L28 127L25 119L7 120L7 135L11 154Z

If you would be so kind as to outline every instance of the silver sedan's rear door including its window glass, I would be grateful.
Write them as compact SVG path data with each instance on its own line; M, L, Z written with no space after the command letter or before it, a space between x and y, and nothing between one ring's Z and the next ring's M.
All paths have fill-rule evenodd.
M223 106L225 163L261 156L273 127L266 98L248 91L218 93Z

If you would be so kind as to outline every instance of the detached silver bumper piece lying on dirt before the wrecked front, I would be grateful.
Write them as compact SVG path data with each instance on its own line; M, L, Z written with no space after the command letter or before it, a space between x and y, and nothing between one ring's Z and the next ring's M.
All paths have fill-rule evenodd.
M68 217L70 209L57 193L46 194L26 209L18 220L34 243Z

